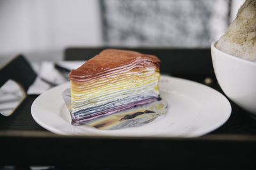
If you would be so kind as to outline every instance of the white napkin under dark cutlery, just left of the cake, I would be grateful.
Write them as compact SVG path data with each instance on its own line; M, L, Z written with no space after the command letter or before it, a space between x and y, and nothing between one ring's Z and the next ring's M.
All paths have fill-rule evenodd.
M34 65L38 73L36 80L29 87L27 94L41 94L51 87L68 82L68 74L72 69L81 66L85 61L44 61L39 66Z

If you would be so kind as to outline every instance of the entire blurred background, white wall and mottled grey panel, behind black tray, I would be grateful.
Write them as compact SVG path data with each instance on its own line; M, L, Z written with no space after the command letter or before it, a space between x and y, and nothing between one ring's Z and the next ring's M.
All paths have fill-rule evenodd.
M1 0L0 64L61 60L68 46L209 48L244 0Z

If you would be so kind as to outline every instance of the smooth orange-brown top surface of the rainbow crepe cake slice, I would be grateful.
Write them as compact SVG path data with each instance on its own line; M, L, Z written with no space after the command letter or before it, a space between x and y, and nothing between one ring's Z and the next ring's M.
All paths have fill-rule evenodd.
M100 52L99 55L95 55L95 57L85 62L82 66L73 69L69 77L71 80L72 76L100 73L115 67L125 67L132 62L141 62L141 65L159 67L158 62L160 62L160 60L154 55L147 55L130 50L106 49Z

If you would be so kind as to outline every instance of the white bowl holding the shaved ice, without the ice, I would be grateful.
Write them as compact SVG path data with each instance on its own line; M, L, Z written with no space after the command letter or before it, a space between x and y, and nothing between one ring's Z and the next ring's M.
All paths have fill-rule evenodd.
M214 73L225 94L256 118L256 62L240 59L211 44Z

